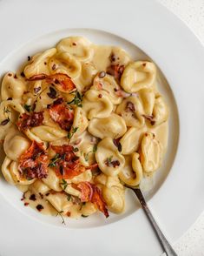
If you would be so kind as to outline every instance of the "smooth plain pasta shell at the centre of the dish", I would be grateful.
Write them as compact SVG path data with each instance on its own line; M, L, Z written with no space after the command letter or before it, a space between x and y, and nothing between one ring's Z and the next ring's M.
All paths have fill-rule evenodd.
M122 117L111 113L109 118L91 119L88 130L98 138L120 138L127 131L127 127Z

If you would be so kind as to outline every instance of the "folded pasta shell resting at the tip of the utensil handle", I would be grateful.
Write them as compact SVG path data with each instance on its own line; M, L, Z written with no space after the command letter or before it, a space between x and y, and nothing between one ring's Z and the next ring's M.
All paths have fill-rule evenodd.
M120 179L127 185L139 185L142 179L142 166L139 160L140 155L133 153L125 157L125 165L119 173Z

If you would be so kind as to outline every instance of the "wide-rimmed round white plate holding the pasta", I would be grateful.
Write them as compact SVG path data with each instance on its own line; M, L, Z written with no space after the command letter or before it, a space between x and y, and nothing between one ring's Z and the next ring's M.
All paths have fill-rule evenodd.
M24 58L36 50L47 48L66 34L81 34L97 44L120 44L128 51L140 47L165 74L174 93L179 111L180 138L174 165L168 178L161 185L174 158L174 145L178 136L174 98L168 85L162 83L162 91L171 104L170 147L163 167L150 196L149 205L161 229L174 242L194 222L203 210L204 173L202 172L202 97L204 80L202 58L204 51L194 35L171 13L155 1L18 1L0 2L0 57L4 59L0 71L16 68ZM67 28L94 28L106 30L68 30ZM63 30L67 29L67 30ZM56 30L47 36L49 31ZM119 37L112 36L116 34ZM181 36L182 35L182 36ZM37 39L29 41L31 37ZM121 39L125 38L133 44ZM23 45L23 46L21 46ZM20 47L20 48L19 48ZM20 49L20 51L19 51ZM20 59L22 57L22 59ZM144 57L144 55L142 55ZM177 126L176 126L177 124ZM158 192L156 190L161 185ZM104 219L70 221L65 228L48 226L27 218L13 206L21 208L14 197L14 190L0 184L0 254L2 255L159 255L157 243L148 221L141 210L130 205L122 216L112 216L104 225ZM156 193L155 193L156 192ZM129 196L129 199L131 196ZM8 204L8 200L11 204ZM133 201L135 204L135 201ZM129 203L128 203L129 205ZM22 207L24 210L24 208ZM26 208L27 209L27 208ZM27 210L26 210L27 211ZM30 210L31 211L31 210ZM33 215L28 210L27 213ZM135 212L134 212L135 211ZM134 213L133 213L134 212ZM132 214L130 214L132 213ZM125 217L125 218L124 218ZM36 217L38 218L38 217ZM115 221L121 219L120 221ZM44 219L43 219L44 221ZM51 221L51 220L50 220ZM76 226L97 226L77 228ZM31 248L31 249L30 249Z

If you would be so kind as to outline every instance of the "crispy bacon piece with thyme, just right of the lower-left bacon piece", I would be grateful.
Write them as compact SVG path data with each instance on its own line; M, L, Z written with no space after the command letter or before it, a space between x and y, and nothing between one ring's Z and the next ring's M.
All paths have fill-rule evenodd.
M72 179L75 176L86 171L86 168L81 165L79 158L74 153L74 148L71 145L55 145L51 148L59 155L56 161L56 175L61 179Z

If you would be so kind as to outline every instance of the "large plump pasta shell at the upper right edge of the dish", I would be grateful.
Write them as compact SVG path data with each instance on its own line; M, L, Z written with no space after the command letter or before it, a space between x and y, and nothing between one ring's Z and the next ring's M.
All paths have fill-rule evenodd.
M155 84L155 77L155 64L147 61L130 63L122 73L122 88L128 92L136 92L144 88L152 88Z

